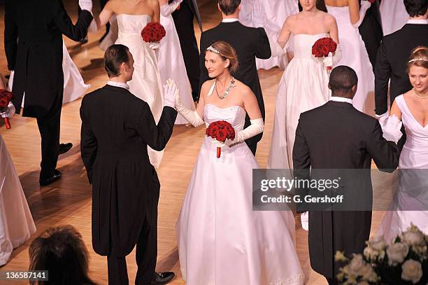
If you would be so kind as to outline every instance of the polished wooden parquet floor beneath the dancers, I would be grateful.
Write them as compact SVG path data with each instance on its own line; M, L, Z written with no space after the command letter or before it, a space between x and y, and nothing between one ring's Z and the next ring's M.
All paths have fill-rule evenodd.
M69 15L76 21L78 1L66 0L65 2ZM206 4L201 6L200 11L204 21L204 29L210 29L220 22L220 14L213 1L206 1ZM99 13L97 1L94 3L94 13ZM0 9L1 19L3 16L4 8L2 7ZM4 28L3 20L0 21L0 27L1 29ZM197 31L199 41L200 32L197 25L195 25L195 31ZM88 92L100 88L107 81L102 60L104 53L98 48L98 40L102 34L104 34L104 30L97 34L90 34L89 43L83 46L65 39L73 61L82 71L85 82L91 85ZM3 33L0 34L0 39L3 43ZM0 54L3 55L0 57L0 72L4 78L8 71L3 44L0 45ZM257 148L257 160L261 167L266 166L269 155L276 90L282 74L283 71L278 68L259 71L266 104L264 137ZM71 224L83 235L87 249L90 251L90 277L99 284L108 284L106 258L94 253L91 244L91 188L87 181L83 162L80 159L80 101L78 99L63 106L61 141L72 142L73 148L59 157L58 169L63 176L62 179L50 186L43 188L38 186L41 148L36 120L15 116L11 120L13 127L11 130L6 130L5 127L0 128L1 135L6 141L8 151L20 176L37 227L36 234L13 251L8 264L1 267L1 271L27 270L29 265L28 247L34 237L52 225ZM158 171L162 187L159 201L157 270L176 272L177 277L171 283L175 285L185 284L180 278L175 225L201 141L204 138L204 131L204 127L174 127L173 136L166 146L162 165ZM381 212L374 213L372 232L378 228L382 216L383 213ZM297 223L296 247L301 265L306 273L307 284L326 284L320 274L311 270L308 258L307 232L302 230L299 225L300 223ZM134 284L136 274L134 252L127 257L127 266L129 282ZM25 283L24 281L0 281L0 284L6 285Z

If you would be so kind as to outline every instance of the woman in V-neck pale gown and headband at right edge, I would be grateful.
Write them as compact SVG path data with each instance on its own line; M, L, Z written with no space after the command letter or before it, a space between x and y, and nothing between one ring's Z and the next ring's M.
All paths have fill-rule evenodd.
M406 127L406 143L399 160L397 197L385 214L378 235L387 242L407 230L411 223L428 233L428 48L415 48L408 62L413 89L392 104L384 133L394 130L399 120ZM391 126L391 127L390 127Z

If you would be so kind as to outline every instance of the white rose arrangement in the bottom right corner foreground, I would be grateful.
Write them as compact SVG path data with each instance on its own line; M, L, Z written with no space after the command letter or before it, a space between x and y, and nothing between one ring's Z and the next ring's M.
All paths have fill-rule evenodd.
M427 285L428 236L411 224L391 244L383 237L373 237L363 254L347 258L337 251L335 259L346 263L337 279L345 285Z

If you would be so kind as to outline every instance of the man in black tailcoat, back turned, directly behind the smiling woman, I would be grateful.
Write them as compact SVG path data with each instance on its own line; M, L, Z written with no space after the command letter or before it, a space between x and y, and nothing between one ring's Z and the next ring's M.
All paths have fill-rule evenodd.
M205 68L205 50L215 41L225 41L229 43L238 56L238 71L233 76L247 85L257 98L260 111L264 120L264 101L262 87L260 86L259 75L255 58L263 60L271 57L271 46L269 39L262 27L245 27L238 21L239 10L241 9L241 0L218 0L218 8L222 12L222 22L208 29L201 34L201 82L202 84L209 80L208 72ZM245 116L245 126L250 125L250 118ZM263 133L262 133L263 134ZM257 142L262 139L262 134L247 139L245 143L255 155Z

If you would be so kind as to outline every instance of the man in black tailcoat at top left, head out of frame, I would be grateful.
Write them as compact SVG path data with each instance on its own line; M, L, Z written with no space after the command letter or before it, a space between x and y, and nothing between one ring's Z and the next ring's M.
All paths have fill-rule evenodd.
M80 0L80 7L83 12L73 25L61 0L6 0L4 47L8 69L15 71L13 105L20 113L23 104L22 116L37 118L41 134L41 186L61 177L55 168L64 90L62 35L78 41L87 34L92 1Z

